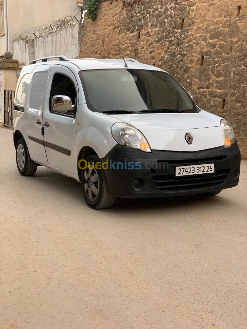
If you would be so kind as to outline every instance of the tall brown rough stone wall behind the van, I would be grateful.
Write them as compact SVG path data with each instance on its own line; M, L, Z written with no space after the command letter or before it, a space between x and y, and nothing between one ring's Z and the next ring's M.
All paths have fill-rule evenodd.
M131 2L102 1L96 21L85 18L80 57L165 69L202 109L231 122L247 159L247 1Z

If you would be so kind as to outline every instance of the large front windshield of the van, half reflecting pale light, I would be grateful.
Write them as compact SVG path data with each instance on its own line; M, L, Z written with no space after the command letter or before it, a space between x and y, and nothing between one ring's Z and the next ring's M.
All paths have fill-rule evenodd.
M92 111L138 113L176 109L180 113L196 112L189 94L166 72L101 69L81 71L80 77Z

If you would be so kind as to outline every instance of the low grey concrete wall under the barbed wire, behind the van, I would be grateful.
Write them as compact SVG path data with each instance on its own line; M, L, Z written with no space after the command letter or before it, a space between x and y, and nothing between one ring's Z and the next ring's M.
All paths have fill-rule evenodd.
M25 65L35 58L46 56L65 55L71 59L77 58L81 32L82 24L75 24L31 41L14 41L13 58Z

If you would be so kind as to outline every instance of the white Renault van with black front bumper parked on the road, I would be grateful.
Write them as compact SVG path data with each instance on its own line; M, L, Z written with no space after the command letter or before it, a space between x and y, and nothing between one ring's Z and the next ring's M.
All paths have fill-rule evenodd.
M238 184L231 125L158 67L47 57L22 68L15 95L20 174L43 165L72 177L94 209L116 197L216 195Z

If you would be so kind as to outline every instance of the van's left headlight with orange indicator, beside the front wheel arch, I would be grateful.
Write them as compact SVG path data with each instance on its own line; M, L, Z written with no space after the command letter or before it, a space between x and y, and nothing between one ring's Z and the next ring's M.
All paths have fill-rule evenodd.
M144 152L151 152L147 139L136 128L124 122L114 123L112 126L112 137L120 145L137 148Z

